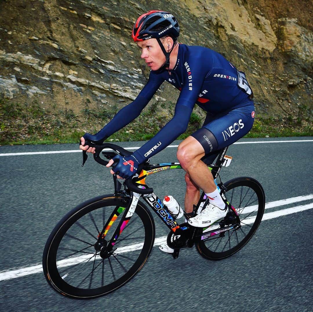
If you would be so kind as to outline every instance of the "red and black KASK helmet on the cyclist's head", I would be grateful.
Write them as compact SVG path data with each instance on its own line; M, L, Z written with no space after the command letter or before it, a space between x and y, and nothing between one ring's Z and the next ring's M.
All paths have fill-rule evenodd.
M149 11L139 16L131 34L135 42L166 35L177 38L179 25L171 13L164 11Z

